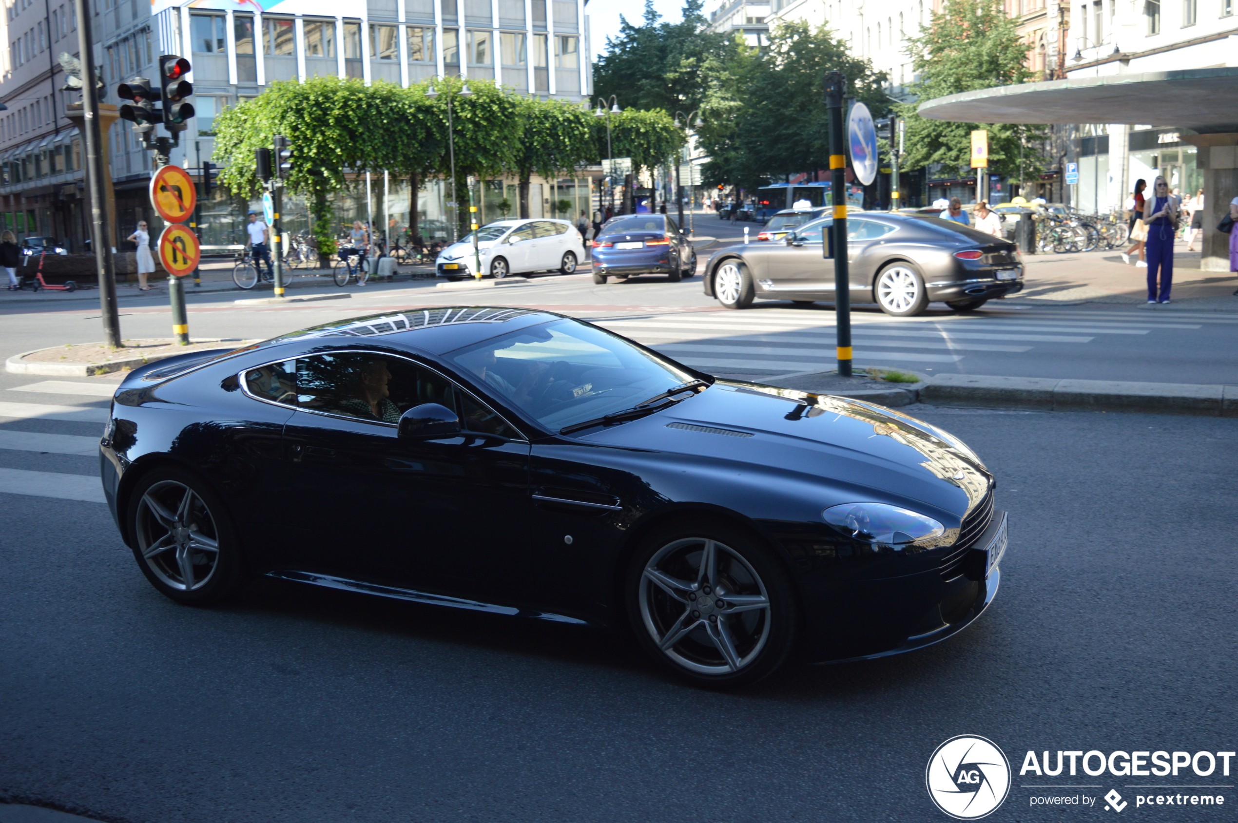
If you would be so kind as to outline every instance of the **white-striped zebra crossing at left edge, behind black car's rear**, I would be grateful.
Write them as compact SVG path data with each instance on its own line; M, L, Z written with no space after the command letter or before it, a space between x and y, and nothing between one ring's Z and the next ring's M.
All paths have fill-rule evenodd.
M45 380L0 391L0 494L105 502L98 454L108 410L97 403L114 391L110 381L72 380ZM64 402L41 402L47 395L63 397ZM80 405L71 405L74 402ZM40 460L33 454L69 459ZM43 464L50 470L43 470Z

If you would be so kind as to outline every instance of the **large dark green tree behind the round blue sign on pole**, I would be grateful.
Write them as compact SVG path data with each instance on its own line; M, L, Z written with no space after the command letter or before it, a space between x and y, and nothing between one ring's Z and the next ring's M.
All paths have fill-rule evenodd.
M780 24L764 52L744 50L717 67L707 95L702 147L711 156L707 184L756 188L787 175L829 167L829 129L822 80L848 78L848 94L874 118L889 109L885 73L852 56L825 26Z

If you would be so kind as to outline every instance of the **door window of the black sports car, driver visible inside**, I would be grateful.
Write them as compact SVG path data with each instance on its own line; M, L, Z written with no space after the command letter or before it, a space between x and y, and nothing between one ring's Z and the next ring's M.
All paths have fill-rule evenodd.
M296 365L297 405L307 411L399 423L400 415L421 403L454 406L451 382L404 358L319 354Z

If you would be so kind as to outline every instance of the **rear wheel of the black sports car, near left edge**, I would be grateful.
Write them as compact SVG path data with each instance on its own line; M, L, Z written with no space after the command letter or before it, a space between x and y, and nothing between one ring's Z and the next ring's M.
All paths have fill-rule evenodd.
M126 506L134 557L161 594L208 605L235 593L244 558L223 499L183 469L155 469Z

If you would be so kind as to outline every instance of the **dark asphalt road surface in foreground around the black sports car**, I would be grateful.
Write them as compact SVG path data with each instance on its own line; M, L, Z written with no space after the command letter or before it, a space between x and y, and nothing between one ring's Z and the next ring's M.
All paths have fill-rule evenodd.
M12 391L38 380L0 375L0 400L106 405L73 394L99 380ZM38 496L93 488L94 458L54 449L98 423L5 410L0 481L21 494L0 493L0 799L124 823L946 821L926 764L979 734L1015 769L988 819L1101 814L1030 798L1145 782L1224 785L1207 791L1227 806L1123 817L1233 819L1219 773L1018 775L1029 750L1236 749L1232 421L914 410L999 478L993 608L928 650L716 694L553 624L295 584L175 605L104 505Z

